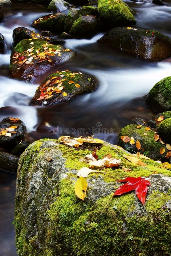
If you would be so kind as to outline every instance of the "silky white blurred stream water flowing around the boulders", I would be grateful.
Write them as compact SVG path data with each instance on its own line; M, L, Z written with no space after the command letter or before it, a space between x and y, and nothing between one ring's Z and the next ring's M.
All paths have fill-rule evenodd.
M158 6L146 3L126 3L135 11L134 27L158 30L171 37L171 3ZM97 34L90 40L68 39L65 47L76 51L76 57L56 70L80 71L95 76L98 88L89 94L76 97L59 106L31 107L29 99L37 86L48 75L36 80L36 84L11 79L8 75L12 50L12 31L18 26L31 28L31 23L40 16L49 14L47 6L36 3L12 2L2 10L5 18L0 23L0 33L5 38L5 54L0 54L0 120L5 117L20 118L27 127L26 139L34 141L43 137L58 138L60 135L92 135L110 143L117 143L120 128L132 123L132 118L151 119L152 113L143 98L164 77L170 76L170 62L148 62L126 53L100 45ZM35 30L39 32L38 30ZM51 72L50 72L51 73ZM48 122L54 133L38 132L39 124ZM44 127L44 126L42 126ZM43 128L41 128L43 129ZM15 256L14 193L16 175L0 173L0 255Z

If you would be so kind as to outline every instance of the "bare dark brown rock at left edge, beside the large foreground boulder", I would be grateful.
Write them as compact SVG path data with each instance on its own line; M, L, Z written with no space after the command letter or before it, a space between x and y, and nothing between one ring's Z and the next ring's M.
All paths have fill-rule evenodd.
M19 156L0 150L0 168L8 172L17 172Z

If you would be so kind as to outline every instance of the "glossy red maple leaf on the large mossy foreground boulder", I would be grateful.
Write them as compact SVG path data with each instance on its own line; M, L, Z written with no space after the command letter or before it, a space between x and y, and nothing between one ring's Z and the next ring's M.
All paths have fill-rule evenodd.
M156 172L156 171L155 171ZM153 172L153 173L155 173ZM150 174L151 175L151 174ZM149 176L147 176L149 177ZM147 178L145 177L145 178ZM147 194L147 186L151 186L150 182L142 177L127 177L126 179L118 180L119 182L127 182L124 185L118 187L114 192L113 196L115 195L122 195L123 193L127 193L129 191L135 190L135 193L141 201L141 203L145 204L145 196Z

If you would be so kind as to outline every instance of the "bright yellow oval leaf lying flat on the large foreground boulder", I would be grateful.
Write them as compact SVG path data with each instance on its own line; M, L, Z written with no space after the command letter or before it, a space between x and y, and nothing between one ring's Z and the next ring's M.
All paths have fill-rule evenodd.
M75 193L76 196L84 201L87 191L87 181L83 177L80 178L75 183Z

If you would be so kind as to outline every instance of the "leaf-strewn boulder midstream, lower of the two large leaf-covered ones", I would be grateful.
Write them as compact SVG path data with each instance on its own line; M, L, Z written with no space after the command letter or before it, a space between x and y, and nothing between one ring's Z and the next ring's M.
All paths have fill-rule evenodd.
M48 106L68 102L75 96L91 92L96 83L88 75L72 71L55 72L49 75L37 88L30 105Z

